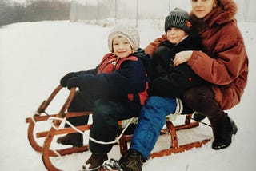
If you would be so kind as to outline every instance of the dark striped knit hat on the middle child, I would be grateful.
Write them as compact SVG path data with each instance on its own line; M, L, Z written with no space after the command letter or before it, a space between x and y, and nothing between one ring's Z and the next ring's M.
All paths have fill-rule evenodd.
M189 33L191 27L190 15L180 8L171 10L170 15L166 17L165 31L167 32L171 27L176 27Z

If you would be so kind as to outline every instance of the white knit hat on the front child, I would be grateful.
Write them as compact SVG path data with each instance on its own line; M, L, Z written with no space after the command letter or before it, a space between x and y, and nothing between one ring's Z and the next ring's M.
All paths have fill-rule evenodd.
M122 36L123 38L126 38L130 42L130 46L133 50L138 50L139 48L139 35L137 28L133 26L118 26L114 27L113 30L111 30L108 43L109 43L109 49L110 52L113 52L113 38L117 36Z

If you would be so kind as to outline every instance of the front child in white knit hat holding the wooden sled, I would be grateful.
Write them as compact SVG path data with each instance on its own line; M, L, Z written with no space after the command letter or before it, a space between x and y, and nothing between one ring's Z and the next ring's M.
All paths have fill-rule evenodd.
M138 117L147 98L143 60L148 55L138 52L138 30L131 26L116 27L111 31L108 42L110 53L102 58L96 69L72 72L61 79L63 87L79 89L69 111L93 111L89 141L92 155L83 169L101 167L112 148L112 144L105 142L114 141L118 133L118 121ZM85 125L88 116L67 120L76 126ZM80 133L67 134L57 141L62 145L83 145Z

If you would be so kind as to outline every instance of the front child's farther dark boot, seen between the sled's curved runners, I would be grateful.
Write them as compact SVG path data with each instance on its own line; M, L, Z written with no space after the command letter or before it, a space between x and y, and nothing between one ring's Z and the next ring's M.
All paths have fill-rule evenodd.
M58 137L58 144L73 145L74 147L82 147L83 137L81 133L69 133L63 137Z

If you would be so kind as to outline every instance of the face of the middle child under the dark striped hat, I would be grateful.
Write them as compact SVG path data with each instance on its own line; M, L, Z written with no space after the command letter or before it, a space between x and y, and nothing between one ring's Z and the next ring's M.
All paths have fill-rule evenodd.
M167 39L171 43L176 44L182 41L182 38L184 38L187 34L184 30L171 27L169 30L167 30L166 35L167 35Z

